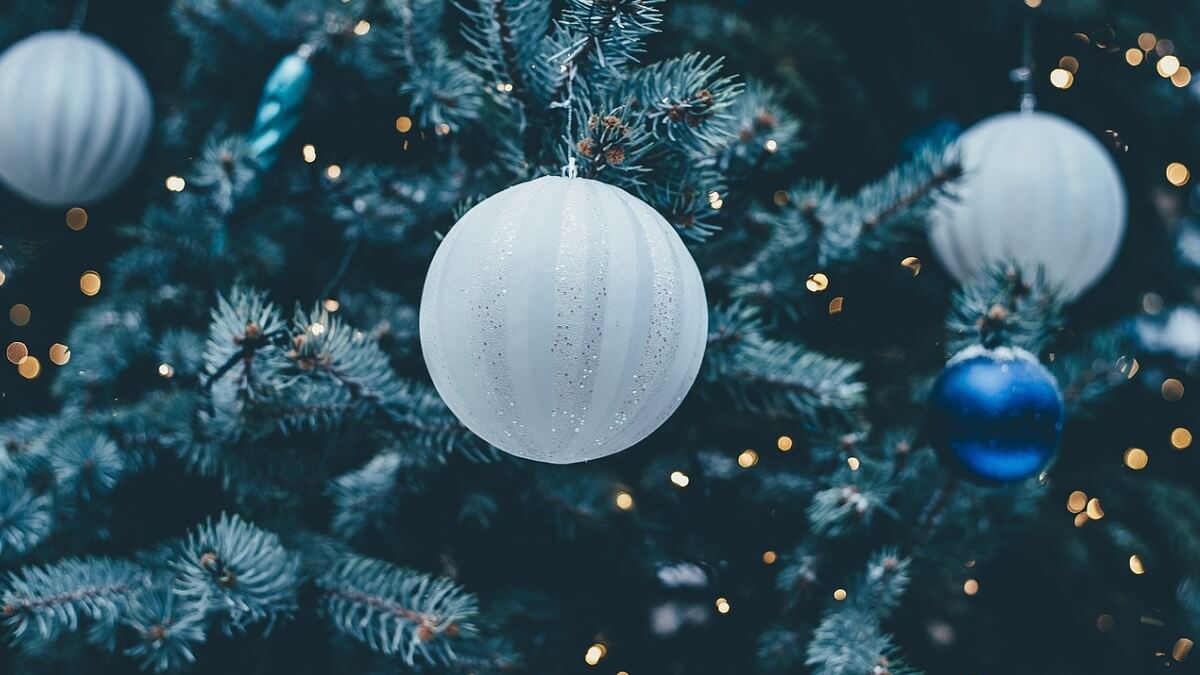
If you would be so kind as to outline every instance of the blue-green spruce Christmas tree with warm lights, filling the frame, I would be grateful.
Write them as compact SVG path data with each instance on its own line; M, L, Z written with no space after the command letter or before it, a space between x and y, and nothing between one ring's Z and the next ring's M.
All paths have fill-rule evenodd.
M0 7L0 145L23 153L0 156L0 673L1195 661L1200 11ZM58 48L5 71L67 26L134 74ZM55 76L30 74L46 54ZM134 166L142 108L113 101L139 77ZM1019 107L1100 159L1054 137L984 190L973 125ZM84 163L120 186L23 187ZM1109 163L1117 183L1079 187ZM568 167L673 227L708 328L660 428L551 465L451 412L419 309L463 214ZM972 199L989 237L1032 229L944 249ZM1033 380L1042 408L994 410ZM1002 392L956 388L979 382Z

